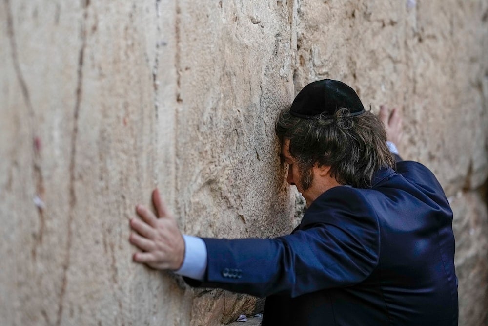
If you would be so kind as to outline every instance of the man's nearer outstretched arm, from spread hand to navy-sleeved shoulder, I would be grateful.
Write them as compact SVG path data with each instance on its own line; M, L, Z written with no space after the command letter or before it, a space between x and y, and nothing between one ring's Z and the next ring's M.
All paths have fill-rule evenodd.
M158 196L157 191L153 192L156 207L160 201ZM175 270L175 261L191 261L191 256L199 261L207 256L203 259L208 261L208 266L203 267L203 275L186 275L203 281L194 285L262 297L277 292L287 292L296 297L317 289L359 283L377 263L379 238L376 218L367 205L361 205L362 197L352 188L338 187L327 196L330 197L330 200L324 200L327 207L317 213L319 222L275 239L203 239L208 255L204 253L202 256L195 255L190 245L184 254L178 249L179 245L170 243L170 239L175 242L183 239L181 233L172 228L173 223L166 222L174 222L172 217L159 214L161 217L158 219L149 210L138 206L137 212L142 220L133 219L131 226L134 231L144 233L142 238L147 238L141 247L138 244L141 242L133 241L141 236L131 235L131 242L144 251L136 253L134 261L156 269ZM352 200L356 203L354 211L345 209L350 206L346 206L350 198L355 198ZM330 216L324 216L323 210L329 211ZM158 220L164 222L158 223ZM171 232L178 237L169 234ZM182 266L181 263L178 266ZM179 270L183 275L184 269L185 263Z

